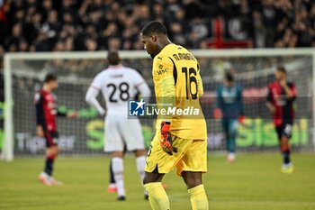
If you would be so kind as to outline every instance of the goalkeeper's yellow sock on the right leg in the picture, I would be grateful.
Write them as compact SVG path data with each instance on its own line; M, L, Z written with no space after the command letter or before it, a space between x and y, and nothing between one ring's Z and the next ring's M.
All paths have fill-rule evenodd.
M190 201L192 203L193 210L208 210L208 198L205 194L203 185L188 189Z

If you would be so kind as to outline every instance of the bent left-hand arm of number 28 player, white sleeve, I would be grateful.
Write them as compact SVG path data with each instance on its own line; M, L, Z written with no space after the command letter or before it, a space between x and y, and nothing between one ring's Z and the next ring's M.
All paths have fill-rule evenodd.
M96 96L98 96L101 87L102 87L102 78L100 77L100 75L97 75L96 78L94 78L91 86L88 88L86 92L85 102L88 105L91 105L94 108L96 108L98 114L103 116L106 112L103 109L102 105L100 105L100 103L96 99Z

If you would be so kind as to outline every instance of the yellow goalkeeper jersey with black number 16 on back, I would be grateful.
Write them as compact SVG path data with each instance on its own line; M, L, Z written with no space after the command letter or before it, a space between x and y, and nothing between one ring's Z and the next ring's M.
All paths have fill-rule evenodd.
M157 131L161 119L168 115L172 134L183 139L206 140L207 127L199 103L203 94L202 78L193 54L182 46L166 45L153 59L152 75L158 108L167 107L161 105L167 101L163 97L175 87L174 105L158 114Z

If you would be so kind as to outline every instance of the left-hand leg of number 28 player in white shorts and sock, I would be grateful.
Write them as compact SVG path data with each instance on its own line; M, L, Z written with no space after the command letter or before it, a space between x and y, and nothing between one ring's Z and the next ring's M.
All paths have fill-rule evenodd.
M117 187L118 200L124 200L126 192L123 180L123 142L116 116L107 115L105 120L105 150L112 152L112 174Z

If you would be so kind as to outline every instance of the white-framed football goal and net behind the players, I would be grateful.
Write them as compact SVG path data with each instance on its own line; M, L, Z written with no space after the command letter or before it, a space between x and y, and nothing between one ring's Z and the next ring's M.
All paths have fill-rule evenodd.
M312 50L193 50L200 62L204 87L202 110L208 124L209 151L224 151L221 122L213 120L215 89L224 73L235 73L243 87L246 120L238 124L238 151L266 151L278 148L271 114L266 109L268 83L275 80L275 67L287 69L288 80L296 84L296 119L291 143L294 150L313 150L314 63ZM121 51L123 64L139 70L153 92L152 60L144 51ZM103 152L103 119L85 103L85 93L94 76L107 67L106 52L8 53L4 57L5 117L4 158L42 154L45 141L35 135L33 97L47 73L58 76L58 108L76 110L80 118L58 118L58 145L67 155ZM102 98L100 98L102 101ZM104 104L103 104L104 105ZM105 106L105 105L104 105ZM153 119L141 119L146 145L155 133Z

